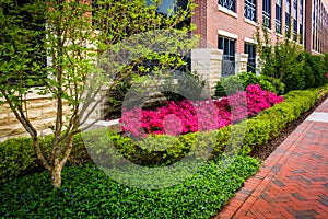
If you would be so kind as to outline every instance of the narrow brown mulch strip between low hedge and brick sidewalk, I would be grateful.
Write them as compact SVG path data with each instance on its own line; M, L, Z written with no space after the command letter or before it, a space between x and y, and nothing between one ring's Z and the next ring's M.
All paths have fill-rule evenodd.
M311 110L303 113L296 120L288 124L288 126L281 130L281 132L279 134L278 137L269 140L269 142L267 145L257 147L258 150L254 150L250 153L250 155L254 158L259 158L262 161L266 160L274 151L274 149L278 148L282 143L282 141L284 141L284 139L286 139L286 137L290 134L292 134L297 128L297 126L303 120L305 120L307 118L307 116L309 116L309 114L312 114L316 110L316 107L319 106L327 97L328 97L328 93L325 96L323 96L321 99L319 99Z

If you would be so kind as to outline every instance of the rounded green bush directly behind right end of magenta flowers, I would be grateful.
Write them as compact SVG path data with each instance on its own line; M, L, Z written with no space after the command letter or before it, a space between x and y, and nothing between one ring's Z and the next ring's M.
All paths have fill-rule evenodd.
M277 94L284 93L284 84L279 79L268 76L256 76L253 72L242 72L237 76L221 78L215 88L215 95L226 96L235 94L236 90L243 91L249 84L259 84L263 90Z

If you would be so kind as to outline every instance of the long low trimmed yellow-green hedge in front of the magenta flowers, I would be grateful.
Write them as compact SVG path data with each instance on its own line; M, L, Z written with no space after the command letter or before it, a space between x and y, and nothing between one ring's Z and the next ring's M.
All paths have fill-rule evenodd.
M187 134L178 138L162 135L136 141L108 130L90 131L82 134L83 136L79 134L74 137L74 147L68 164L90 162L89 154L96 159L97 164L106 166L125 164L128 161L150 166L167 165L186 155L195 159L218 157L227 149L248 154L314 106L326 90L327 88L292 91L284 96L283 103L261 112L256 117L219 130ZM49 148L51 138L46 137L42 147ZM113 155L116 154L116 150L122 155ZM212 153L209 153L211 150ZM0 143L0 160L1 182L43 169L28 138L9 139Z

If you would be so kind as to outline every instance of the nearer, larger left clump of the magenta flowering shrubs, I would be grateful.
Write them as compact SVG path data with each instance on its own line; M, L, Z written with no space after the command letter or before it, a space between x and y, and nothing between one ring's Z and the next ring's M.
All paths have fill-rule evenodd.
M230 113L222 110L220 114L212 100L192 102L184 100L179 103L166 102L166 105L156 111L124 108L122 131L136 137L147 137L148 134L180 134L213 130L230 124Z

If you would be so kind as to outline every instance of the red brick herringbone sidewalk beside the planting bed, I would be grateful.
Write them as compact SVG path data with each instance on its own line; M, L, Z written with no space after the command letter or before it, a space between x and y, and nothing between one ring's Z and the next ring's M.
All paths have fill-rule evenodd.
M315 112L328 113L328 100ZM216 218L328 219L328 117L325 116L328 114L321 119L325 122L320 118L303 122Z

